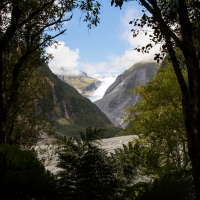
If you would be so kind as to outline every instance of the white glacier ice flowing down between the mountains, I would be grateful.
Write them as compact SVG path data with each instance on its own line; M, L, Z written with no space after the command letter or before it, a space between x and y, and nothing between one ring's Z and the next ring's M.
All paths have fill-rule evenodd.
M116 78L117 78L117 74L113 74L113 73L108 73L108 74L95 74L93 76L93 78L96 78L98 80L101 81L101 85L97 88L97 90L95 90L95 92L93 93L92 96L87 97L88 99L90 99L92 102L97 101L99 99L101 99L103 97L103 95L105 94L107 88L115 82Z

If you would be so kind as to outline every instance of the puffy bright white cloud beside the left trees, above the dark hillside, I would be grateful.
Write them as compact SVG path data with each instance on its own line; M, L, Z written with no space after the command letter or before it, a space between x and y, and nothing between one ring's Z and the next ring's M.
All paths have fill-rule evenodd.
M54 58L49 62L49 67L53 73L78 74L77 69L79 60L79 49L70 50L64 42L58 42L57 48L54 46L47 47L46 52L52 54Z

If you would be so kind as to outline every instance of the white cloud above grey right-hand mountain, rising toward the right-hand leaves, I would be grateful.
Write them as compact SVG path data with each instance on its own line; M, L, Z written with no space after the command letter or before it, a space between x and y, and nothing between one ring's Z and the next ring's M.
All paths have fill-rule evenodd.
M137 62L153 61L155 53L159 52L159 45L154 46L149 53L145 54L134 50L137 46L146 46L150 42L148 35L145 36L145 33L142 32L136 38L133 38L133 34L131 32L133 27L129 24L129 22L140 17L141 13L138 10L135 10L134 6L128 7L125 14L121 16L120 38L128 43L129 46L123 55L109 55L109 62L81 62L79 63L81 69L91 76L95 73L122 73L124 70L130 68ZM152 33L150 28L145 28L145 30L148 30L148 33L150 34Z

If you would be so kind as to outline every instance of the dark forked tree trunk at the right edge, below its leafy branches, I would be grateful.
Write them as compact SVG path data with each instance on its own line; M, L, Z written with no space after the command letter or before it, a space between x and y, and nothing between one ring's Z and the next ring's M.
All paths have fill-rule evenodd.
M200 200L200 69L195 51L184 49L188 71L188 85L180 70L170 36L165 34L167 50L182 92L182 107L185 121L188 153L193 169L197 200Z

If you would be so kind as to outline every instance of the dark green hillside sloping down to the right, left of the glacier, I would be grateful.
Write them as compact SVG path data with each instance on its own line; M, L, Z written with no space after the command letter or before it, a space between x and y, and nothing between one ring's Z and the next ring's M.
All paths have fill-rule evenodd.
M58 132L68 136L78 136L79 131L85 131L86 127L98 126L107 130L105 137L112 137L120 131L112 126L107 116L89 99L61 81L48 66L44 66L43 69L45 76L53 86L50 98L54 107L49 108L49 113L55 119Z

